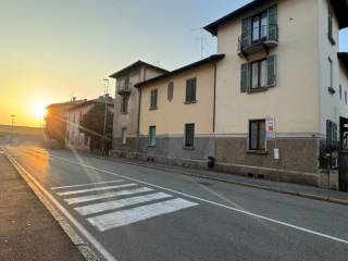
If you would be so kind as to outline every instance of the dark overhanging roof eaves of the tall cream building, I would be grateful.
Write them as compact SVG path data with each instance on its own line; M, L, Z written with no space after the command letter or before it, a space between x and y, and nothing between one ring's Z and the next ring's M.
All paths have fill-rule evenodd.
M259 8L263 4L266 4L269 2L274 2L274 0L253 0L252 2L243 5L241 8L233 11L232 13L216 20L215 22L212 22L211 24L204 26L204 29L208 30L213 36L217 35L217 27L224 23L227 23L234 18L237 18L241 14L253 10L256 8ZM330 0L339 23L339 29L348 27L348 0Z

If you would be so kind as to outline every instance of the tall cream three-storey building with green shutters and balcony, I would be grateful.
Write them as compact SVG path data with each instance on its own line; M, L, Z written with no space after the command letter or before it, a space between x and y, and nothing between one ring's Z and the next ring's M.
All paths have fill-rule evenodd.
M204 27L225 54L216 65L217 170L337 187L319 159L347 142L347 54L338 50L347 13L346 0L256 0Z

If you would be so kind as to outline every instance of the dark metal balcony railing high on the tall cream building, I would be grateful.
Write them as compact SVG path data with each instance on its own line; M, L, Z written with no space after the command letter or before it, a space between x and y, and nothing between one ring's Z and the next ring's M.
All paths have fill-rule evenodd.
M253 27L238 37L238 51L260 42L278 41L278 26L263 25Z

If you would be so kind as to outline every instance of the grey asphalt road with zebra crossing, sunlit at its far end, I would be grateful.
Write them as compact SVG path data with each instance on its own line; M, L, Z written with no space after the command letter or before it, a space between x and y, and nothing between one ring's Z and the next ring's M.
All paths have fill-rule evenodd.
M345 206L76 151L2 147L105 260L348 259Z

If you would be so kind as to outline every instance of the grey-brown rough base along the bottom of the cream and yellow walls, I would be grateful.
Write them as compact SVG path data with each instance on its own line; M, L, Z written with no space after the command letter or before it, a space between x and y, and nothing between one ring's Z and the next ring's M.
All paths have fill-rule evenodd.
M138 152L123 156L202 170L208 169L207 159L211 156L216 161L212 171L335 188L335 175L320 172L320 142L318 138L281 138L269 140L266 151L257 153L247 150L247 138L197 137L195 149L186 149L183 138L158 137L157 146L149 147L148 139L140 137ZM275 145L279 149L278 161L273 156Z

